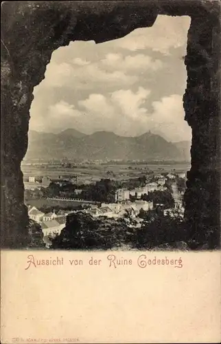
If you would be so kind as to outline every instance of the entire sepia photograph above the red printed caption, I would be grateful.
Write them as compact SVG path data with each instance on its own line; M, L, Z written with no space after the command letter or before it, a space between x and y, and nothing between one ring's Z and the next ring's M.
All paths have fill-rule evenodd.
M84 6L84 1L80 3ZM110 3L113 6L115 1ZM38 12L46 5L34 2L33 6ZM185 99L191 17L159 14L148 20L148 25L127 28L129 33L117 39L68 39L51 52L40 82L32 79L31 95L17 84L21 96L14 100L15 107L19 112L25 103L30 107L24 125L21 122L23 129L28 128L21 172L14 176L19 178L23 204L12 193L9 196L10 208L18 206L23 228L15 241L8 239L11 248L219 247L218 209L213 209L214 221L207 215L208 207L218 208L218 191L208 197L208 192L213 193L207 189L212 174L206 171L206 180L200 177L198 183L205 169L197 171L193 160L191 165L192 143L200 140L192 138L187 108L191 106L193 117L198 104L204 106L203 100ZM8 45L4 41L2 45L3 56L13 60ZM198 71L200 65L194 68ZM12 145L19 144L18 133L11 136ZM217 150L217 140L214 144ZM7 160L6 155L6 174ZM201 195L193 190L188 173ZM218 180L217 166L215 173ZM6 184L7 203L5 190ZM202 199L207 204L201 204ZM5 222L10 225L7 217Z

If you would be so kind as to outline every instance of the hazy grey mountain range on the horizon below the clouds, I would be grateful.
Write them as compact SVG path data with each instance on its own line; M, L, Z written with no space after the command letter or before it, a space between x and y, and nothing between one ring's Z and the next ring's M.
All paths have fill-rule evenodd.
M191 142L168 142L150 131L137 137L109 131L86 135L75 129L60 133L29 131L26 159L190 160Z

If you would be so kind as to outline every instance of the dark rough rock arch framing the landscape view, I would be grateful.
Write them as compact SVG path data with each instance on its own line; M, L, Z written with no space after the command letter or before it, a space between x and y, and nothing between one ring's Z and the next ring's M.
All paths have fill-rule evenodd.
M220 12L219 1L5 2L1 41L1 247L29 241L21 161L34 86L51 54L69 41L102 43L154 24L158 14L188 15L185 120L192 129L185 218L196 249L220 247Z

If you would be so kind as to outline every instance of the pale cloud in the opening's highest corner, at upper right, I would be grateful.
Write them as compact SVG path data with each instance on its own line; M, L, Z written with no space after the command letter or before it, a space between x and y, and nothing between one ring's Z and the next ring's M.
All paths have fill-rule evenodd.
M151 28L139 28L120 40L115 47L135 52L150 48L155 52L170 54L170 48L186 46L190 17L159 15Z

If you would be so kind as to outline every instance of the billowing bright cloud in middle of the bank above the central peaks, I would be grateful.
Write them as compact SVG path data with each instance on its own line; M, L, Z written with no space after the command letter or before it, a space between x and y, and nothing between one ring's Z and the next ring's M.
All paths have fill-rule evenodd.
M107 130L124 136L130 136L131 132L136 135L142 116L146 116L146 109L142 105L149 94L150 90L143 87L139 87L137 92L119 89L106 96L90 94L78 102L82 117L75 121L74 127L84 132L86 128L87 133ZM90 127L87 125L89 122Z

